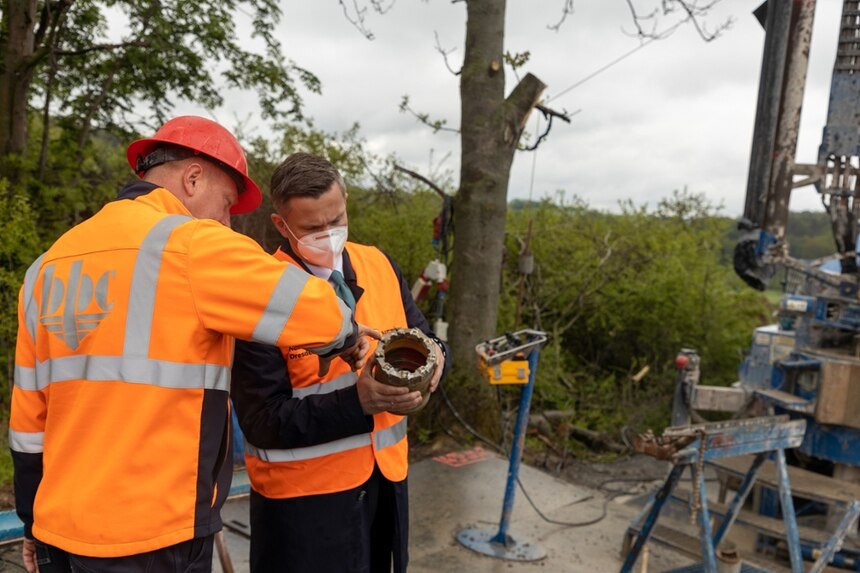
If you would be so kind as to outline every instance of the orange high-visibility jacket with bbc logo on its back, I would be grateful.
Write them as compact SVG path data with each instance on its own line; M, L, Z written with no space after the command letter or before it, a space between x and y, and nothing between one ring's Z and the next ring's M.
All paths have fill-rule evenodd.
M32 520L37 539L95 557L220 530L233 337L323 354L355 329L325 281L165 189L64 234L27 271L18 317L19 514L28 534Z

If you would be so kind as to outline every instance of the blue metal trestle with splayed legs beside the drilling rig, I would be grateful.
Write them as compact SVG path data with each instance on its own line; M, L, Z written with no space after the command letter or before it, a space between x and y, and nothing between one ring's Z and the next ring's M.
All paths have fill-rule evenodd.
M640 517L634 520L632 527L638 528L636 540L628 551L620 573L630 573L642 551L642 548L651 536L660 511L672 490L678 484L684 470L689 467L693 478L698 484L696 500L698 501L698 524L701 532L701 548L703 563L698 571L705 573L717 573L716 555L714 549L724 539L729 528L735 522L738 513L743 506L752 486L755 483L759 469L768 455L775 453L777 475L779 476L779 499L782 505L783 521L786 531L786 545L791 561L792 573L803 573L803 557L801 545L798 538L797 520L794 513L794 504L791 498L791 486L788 480L788 467L785 463L785 448L797 447L803 440L806 430L804 420L788 421L788 416L769 416L765 418L753 418L744 422L718 422L713 424L701 424L686 428L670 428L667 434L674 432L688 432L698 434L698 438L689 443L685 449L679 451L675 457L675 465L669 472L665 483L656 492L648 507L643 510ZM666 434L664 434L666 435ZM708 512L708 496L705 488L705 476L702 464L708 460L725 457L740 456L745 454L756 454L756 457L747 471L740 487L738 487L729 510L716 532L711 531L711 519ZM696 484L694 483L694 486ZM837 530L821 549L821 555L809 570L810 573L821 573L828 563L833 559L838 547L841 545L847 531L856 523L860 515L860 501L854 501L846 510ZM641 527L640 527L641 524ZM692 571L684 568L683 571Z

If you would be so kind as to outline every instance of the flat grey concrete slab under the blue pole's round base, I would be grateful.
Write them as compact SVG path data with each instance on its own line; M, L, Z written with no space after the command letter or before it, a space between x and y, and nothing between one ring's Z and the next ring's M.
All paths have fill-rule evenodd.
M526 465L520 466L520 481L547 518L568 524L591 522L604 514L604 508L605 517L583 527L549 523L518 488L508 533L518 541L537 544L546 552L546 558L537 562L507 561L460 545L456 535L463 528L477 527L493 533L499 528L508 460L485 455L484 459L460 467L434 459L410 467L410 573L618 571L624 532L638 507L607 500L597 490L570 484ZM248 540L236 531L247 524L247 511L247 499L238 499L228 502L222 514L228 524L225 539L236 573L248 571ZM657 547L651 550L648 570L663 571L688 563ZM217 557L213 571L223 571Z

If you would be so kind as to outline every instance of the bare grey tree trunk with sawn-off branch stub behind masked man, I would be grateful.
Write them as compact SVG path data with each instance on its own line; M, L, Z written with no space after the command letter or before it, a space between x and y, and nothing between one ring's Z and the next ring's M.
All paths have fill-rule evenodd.
M495 335L511 163L525 121L546 87L529 74L505 99L505 0L466 5L451 269L450 340L460 366L473 364L475 344Z

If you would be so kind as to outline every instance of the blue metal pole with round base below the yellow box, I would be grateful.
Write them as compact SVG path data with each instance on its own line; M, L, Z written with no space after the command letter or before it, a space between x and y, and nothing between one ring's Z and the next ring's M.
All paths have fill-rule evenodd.
M511 448L511 460L508 464L508 481L505 486L505 501L502 505L502 518L499 521L499 529L498 531L492 531L488 529L467 528L457 533L457 541L469 549L483 555L489 555L498 559L507 559L509 561L538 561L546 557L546 551L538 545L530 541L515 539L508 533L508 524L510 523L511 513L514 509L517 475L520 470L539 354L540 348L534 348L528 356L529 381L523 387L523 392L520 395L520 407L517 411L517 420L514 426L513 447Z

